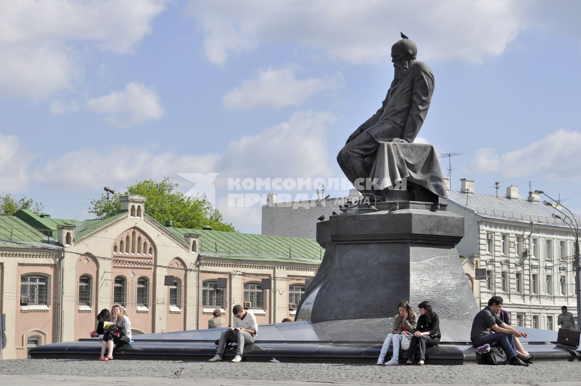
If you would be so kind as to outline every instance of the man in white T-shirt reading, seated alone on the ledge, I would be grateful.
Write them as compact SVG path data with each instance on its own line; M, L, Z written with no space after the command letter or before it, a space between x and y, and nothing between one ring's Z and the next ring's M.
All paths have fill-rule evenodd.
M216 356L210 359L210 362L218 362L222 360L224 355L224 348L226 341L238 342L238 349L236 349L236 356L232 362L240 362L242 360L242 351L245 343L254 343L256 334L258 333L258 323L256 323L256 316L252 312L245 311L241 305L237 304L232 308L234 314L234 326L228 327L228 330L222 331L220 335L220 344L216 350Z

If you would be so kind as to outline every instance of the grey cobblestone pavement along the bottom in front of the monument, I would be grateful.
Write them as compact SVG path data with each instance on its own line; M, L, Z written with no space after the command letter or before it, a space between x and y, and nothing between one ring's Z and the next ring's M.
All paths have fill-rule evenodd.
M178 380L175 370L185 367ZM579 385L581 362L536 362L529 367L375 366L361 363L182 362L170 360L20 359L0 361L0 384L75 385L329 385L531 384Z

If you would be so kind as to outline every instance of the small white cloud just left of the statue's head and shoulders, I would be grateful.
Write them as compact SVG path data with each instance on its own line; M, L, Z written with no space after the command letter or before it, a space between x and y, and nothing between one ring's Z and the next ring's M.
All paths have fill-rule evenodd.
M334 77L296 79L292 69L263 69L224 95L223 103L231 109L299 106L311 95L335 88L337 84Z

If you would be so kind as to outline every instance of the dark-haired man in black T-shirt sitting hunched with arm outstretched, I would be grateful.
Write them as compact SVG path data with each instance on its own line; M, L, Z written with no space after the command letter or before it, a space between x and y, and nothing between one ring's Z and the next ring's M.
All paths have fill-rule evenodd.
M528 355L517 353L513 337L521 338L528 337L528 334L517 330L512 326L504 323L498 317L498 311L503 304L503 298L500 296L492 296L488 301L488 306L480 311L472 321L472 331L470 339L475 347L483 346L485 344L493 344L498 342L507 353L510 364L517 366L529 366L529 361L534 358ZM524 362L523 362L524 361Z

